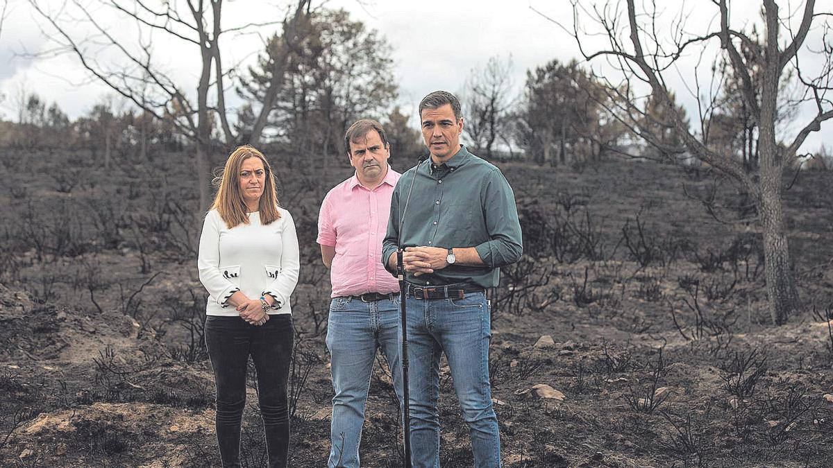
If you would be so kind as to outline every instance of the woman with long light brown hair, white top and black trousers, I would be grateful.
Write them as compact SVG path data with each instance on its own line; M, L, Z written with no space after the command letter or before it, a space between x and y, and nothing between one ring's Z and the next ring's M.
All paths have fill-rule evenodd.
M269 466L287 466L294 336L289 296L299 269L295 223L278 207L272 168L254 147L234 150L216 182L197 267L209 293L205 336L217 385L222 466L240 466L249 356L257 371Z

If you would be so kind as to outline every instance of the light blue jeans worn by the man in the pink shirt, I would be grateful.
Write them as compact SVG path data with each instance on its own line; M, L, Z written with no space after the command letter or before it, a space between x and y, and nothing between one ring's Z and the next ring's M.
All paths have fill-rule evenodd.
M387 358L393 386L402 401L402 363L399 361L399 297L363 302L336 297L330 304L327 349L332 366L332 421L327 466L359 466L365 401L370 388L377 348ZM402 404L400 403L400 406Z

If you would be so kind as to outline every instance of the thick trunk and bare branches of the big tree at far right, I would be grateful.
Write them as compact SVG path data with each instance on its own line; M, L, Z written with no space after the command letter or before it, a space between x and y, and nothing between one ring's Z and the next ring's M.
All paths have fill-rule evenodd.
M586 9L579 7L577 3L573 2L573 12L576 17L582 12L586 12ZM607 7L610 7L611 3L616 2L608 2ZM656 29L654 28L656 28L657 23L653 19L649 20L648 27L645 25L646 17L656 17L655 13L659 11L656 2L648 2L653 6L647 7L647 12L641 10L637 12L637 3L641 5L640 8L644 7L642 2L626 0L629 23L626 32L629 34L632 48L623 45L626 32L623 31L620 34L617 28L611 27L611 25L621 21L619 9L617 7L611 8L608 12L605 8L601 8L601 10L596 11L596 15L598 15L596 19L599 24L607 27L607 32L611 37L611 47L602 47L601 50L595 51L592 49L589 51L583 50L582 54L588 61L596 57L616 57L616 60L628 62L627 67L621 67L625 75L626 88L630 89L631 82L648 82L653 92L652 97L660 98L659 103L661 104L673 106L672 95L666 87L663 72L671 69L671 64L675 62L676 57L683 56L687 44L705 42L711 40L711 37L720 39L721 50L723 51L721 53L728 57L735 76L741 78L739 92L743 99L745 117L749 120L749 122L745 122L747 132L745 149L747 151L744 161L738 161L737 157L733 155L712 151L708 147L707 141L703 140L703 135L696 135L691 132L689 122L681 113L671 112L672 123L681 135L683 144L694 157L734 177L741 183L746 193L755 198L763 234L765 256L763 261L771 318L776 324L785 323L791 312L801 307L801 301L796 289L796 280L791 271L790 249L786 236L784 208L781 198L781 192L783 192L782 177L786 168L791 167L791 164L796 162L797 151L806 141L806 137L812 132L819 132L821 122L833 119L833 108L830 107L830 102L822 97L824 91L828 88L817 84L829 83L831 76L833 76L829 51L822 48L818 52L825 63L822 72L813 77L812 80L806 79L806 77L801 77L800 80L802 86L804 86L805 96L811 97L807 98L806 101L815 102L816 104L816 115L810 122L806 122L806 125L801 128L792 142L781 142L780 145L776 139L776 117L779 105L778 84L782 78L789 76L785 74L787 66L790 67L790 72L797 73L799 71L797 53L800 50L816 53L816 47L805 45L806 38L814 27L814 20L828 16L828 12L826 10L816 12L816 1L806 0L806 2L803 2L804 7L800 8L800 10L803 10L800 13L801 24L795 28L790 19L797 19L798 12L791 9L786 13L786 16L779 16L776 0L763 0L766 32L761 35L760 40L751 40L749 36L742 32L742 29L739 31L731 27L730 1L714 0L712 3L720 11L719 29L712 30L707 35L692 37L681 45L678 51L662 57L663 59L674 57L671 61L662 62L657 60L657 55L652 47L654 44L663 43L665 39L656 35ZM821 28L827 32L830 27L825 21L826 19L821 20ZM816 22L816 26L818 24ZM779 27L782 26L790 26L786 37L779 37ZM746 28L746 26L742 28ZM684 29L684 27L681 27L680 31ZM581 42L581 38L584 36L580 37L578 32L574 32L573 37L576 38L577 42ZM648 52L643 47L644 37L647 37L647 42L651 44L651 47L648 47ZM781 44L784 44L785 47L780 48ZM751 55L745 57L741 54L744 50L742 47L750 45L754 46L748 49ZM702 50L705 51L706 49ZM639 119L644 116L644 112L629 101L626 93L620 91L620 87L623 85L611 86L613 82L615 81L612 81L606 87L608 94L614 98L624 98L623 102L626 102L626 110L631 115L632 122L639 122ZM716 100L712 99L712 103L714 102ZM671 109L673 110L674 107L671 107ZM701 124L704 123L706 122L701 121ZM631 126L635 124L631 124ZM651 137L659 136L651 135Z

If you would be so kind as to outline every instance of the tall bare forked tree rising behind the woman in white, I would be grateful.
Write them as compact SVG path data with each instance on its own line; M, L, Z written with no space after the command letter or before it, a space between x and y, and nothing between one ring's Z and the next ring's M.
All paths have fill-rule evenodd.
M202 211L208 205L206 151L212 142L215 122L219 123L224 144L231 146L237 142L226 109L226 92L232 88L227 80L231 79L237 64L232 67L223 64L221 38L232 32L282 23L282 45L289 48L303 34L312 0L292 0L292 7L282 22L250 22L225 28L221 26L222 0L67 0L60 4L29 0L29 3L44 20L47 37L56 43L48 53L76 56L97 80L153 117L172 122L193 142ZM123 38L105 19L112 17L135 24L138 37ZM196 94L191 92L192 84L177 82L166 68L162 60L167 52L166 42L185 42L199 51L201 67ZM276 57L271 64L273 87L280 86L285 66L281 62L285 55ZM274 93L267 92L266 99L270 98L274 98ZM268 113L271 107L264 102L258 122L265 120L262 114ZM257 143L259 137L259 133L253 134L251 142Z

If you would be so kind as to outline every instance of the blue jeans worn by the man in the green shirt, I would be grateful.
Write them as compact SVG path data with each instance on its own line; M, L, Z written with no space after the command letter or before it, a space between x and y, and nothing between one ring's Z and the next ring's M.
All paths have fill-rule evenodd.
M501 436L491 406L486 295L463 299L407 297L408 390L411 404L411 461L414 468L440 466L440 356L443 351L463 419L469 426L474 465L501 466Z

